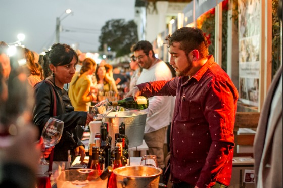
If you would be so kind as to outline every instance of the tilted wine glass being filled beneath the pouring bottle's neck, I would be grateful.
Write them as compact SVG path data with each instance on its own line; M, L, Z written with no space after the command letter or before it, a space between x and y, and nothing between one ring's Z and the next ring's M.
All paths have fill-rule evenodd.
M103 100L92 107L90 114L95 120L105 118L111 111L113 107L107 100Z

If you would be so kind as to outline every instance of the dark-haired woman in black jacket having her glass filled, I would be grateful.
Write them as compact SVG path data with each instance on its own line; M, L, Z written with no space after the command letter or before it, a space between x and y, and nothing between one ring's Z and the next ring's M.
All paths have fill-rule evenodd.
M44 64L48 64L52 75L34 86L35 107L33 122L38 126L40 135L44 125L50 117L64 122L62 137L54 147L53 174L62 166L70 166L69 152L72 156L81 155L84 159L84 145L77 134L77 126L84 126L93 121L88 112L74 111L64 84L70 83L78 62L76 52L67 44L54 44L43 57ZM45 73L44 74L48 74ZM55 178L55 177L54 177Z

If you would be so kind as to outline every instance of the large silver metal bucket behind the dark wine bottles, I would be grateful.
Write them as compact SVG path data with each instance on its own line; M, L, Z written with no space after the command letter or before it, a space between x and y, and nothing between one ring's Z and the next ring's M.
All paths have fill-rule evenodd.
M115 133L119 133L119 125L125 123L125 133L129 138L129 148L143 144L147 112L131 110L123 112L110 112L105 122L109 122L109 134L112 137L114 148Z

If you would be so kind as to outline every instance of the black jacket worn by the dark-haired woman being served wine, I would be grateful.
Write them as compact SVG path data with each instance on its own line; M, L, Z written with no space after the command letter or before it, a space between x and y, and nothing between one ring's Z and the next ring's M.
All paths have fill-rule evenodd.
M35 107L33 111L33 122L39 128L39 133L45 123L53 117L54 95L56 94L56 119L64 122L64 130L60 142L54 148L54 161L68 161L68 150L71 154L77 146L83 145L77 136L76 126L84 126L87 112L74 111L68 93L65 89L51 86L45 80L34 86Z

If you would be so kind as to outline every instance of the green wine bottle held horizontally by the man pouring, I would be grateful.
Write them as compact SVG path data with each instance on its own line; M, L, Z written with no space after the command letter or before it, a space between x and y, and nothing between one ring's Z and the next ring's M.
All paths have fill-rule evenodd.
M149 99L144 96L138 96L134 101L133 97L127 97L120 101L109 101L112 106L120 106L129 110L144 110L149 106Z

